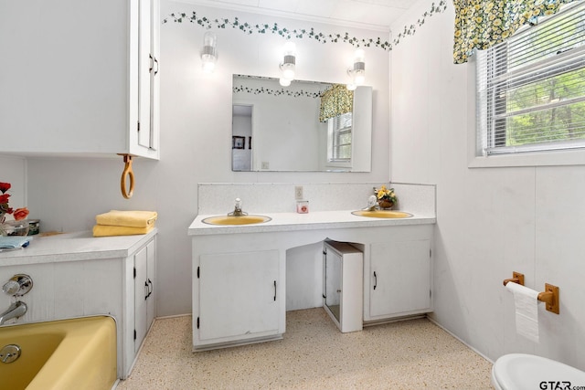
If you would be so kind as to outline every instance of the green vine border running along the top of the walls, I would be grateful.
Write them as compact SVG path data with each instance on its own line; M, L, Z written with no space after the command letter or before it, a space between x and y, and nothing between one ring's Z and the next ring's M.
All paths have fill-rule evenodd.
M309 29L290 29L285 26L279 26L277 23L263 24L263 25L253 25L247 22L242 22L239 20L239 17L234 17L233 20L225 18L225 19L210 19L206 16L199 17L196 11L193 11L191 15L187 15L184 12L179 13L172 13L169 16L166 16L163 19L163 24L168 23L169 21L173 21L175 23L183 23L189 22L193 23L198 26L202 26L206 29L211 28L218 28L218 29L225 29L231 27L233 29L237 29L244 34L251 35L251 34L277 34L285 39L297 38L309 38L314 39L317 42L321 43L348 43L354 47L378 47L383 50L391 50L392 47L399 44L400 39L408 36L412 36L416 33L417 26L423 26L425 23L425 19L427 17L433 16L435 14L439 14L444 12L447 9L447 2L446 0L440 0L438 5L435 3L431 4L431 9L426 11L422 16L420 16L419 20L415 24L410 26L404 26L403 31L401 31L397 37L392 40L392 43L388 41L383 41L382 38L358 38L352 37L349 33L343 34L324 34L323 32L316 31L313 27Z

